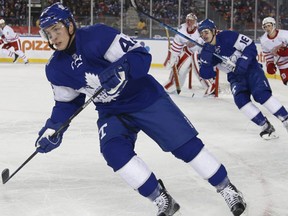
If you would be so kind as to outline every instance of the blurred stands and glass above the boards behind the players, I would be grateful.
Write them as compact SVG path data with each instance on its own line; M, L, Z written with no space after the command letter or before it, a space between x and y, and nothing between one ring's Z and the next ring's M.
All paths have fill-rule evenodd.
M0 0L0 18L21 35L38 35L41 11L62 2L74 13L77 25L104 23L136 38L167 38L165 29L137 13L129 0ZM146 13L177 28L188 13L198 21L210 18L218 29L233 29L259 42L262 19L272 16L277 27L288 29L286 0L136 0ZM174 35L171 35L174 36Z

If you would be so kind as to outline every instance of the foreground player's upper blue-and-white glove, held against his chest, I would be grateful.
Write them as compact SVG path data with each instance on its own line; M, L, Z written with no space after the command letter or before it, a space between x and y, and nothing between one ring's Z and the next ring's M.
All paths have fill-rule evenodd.
M106 89L107 93L110 95L121 91L127 83L126 77L128 71L129 64L126 60L117 65L108 67L98 75L101 86Z

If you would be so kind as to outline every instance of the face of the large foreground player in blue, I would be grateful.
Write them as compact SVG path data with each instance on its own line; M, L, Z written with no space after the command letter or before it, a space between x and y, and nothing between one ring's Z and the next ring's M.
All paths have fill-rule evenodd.
M64 24L59 22L44 30L50 44L53 44L57 50L65 50L69 42L69 34Z

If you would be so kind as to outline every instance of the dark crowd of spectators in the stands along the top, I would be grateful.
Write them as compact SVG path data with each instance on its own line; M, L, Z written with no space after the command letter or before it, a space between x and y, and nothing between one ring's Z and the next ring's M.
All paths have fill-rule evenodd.
M35 0L34 0L35 1ZM34 2L32 1L32 3ZM36 0L37 1L37 0ZM57 0L38 0L41 2L42 8L57 2ZM129 1L124 1L124 12L129 7ZM137 1L142 10L150 13L150 0ZM227 22L227 28L231 22L231 0L209 0L209 7ZM275 17L276 15L276 0L260 0L258 1L258 23L266 16ZM285 1L283 1L285 2ZM14 26L27 26L28 23L28 0L0 0L0 18L6 20L7 23ZM63 4L68 6L75 14L79 25L89 25L91 17L91 1L90 0L63 0ZM172 26L178 23L178 8L179 0L153 0L152 15ZM199 4L203 5L201 0L182 0L181 1L181 22L185 20L188 13L194 12L199 18L203 18L203 10L199 10ZM283 3L284 4L284 3ZM204 6L203 6L204 7ZM42 8L39 8L39 14L32 14L32 26L36 25L36 21L40 15ZM203 9L203 8L202 8ZM284 28L288 28L288 16L286 11L288 4L280 7L280 22ZM121 1L120 0L94 0L93 4L94 21L105 22L106 17L120 17ZM234 0L233 22L236 30L241 28L254 28L255 1ZM146 17L139 14L139 19L146 20Z

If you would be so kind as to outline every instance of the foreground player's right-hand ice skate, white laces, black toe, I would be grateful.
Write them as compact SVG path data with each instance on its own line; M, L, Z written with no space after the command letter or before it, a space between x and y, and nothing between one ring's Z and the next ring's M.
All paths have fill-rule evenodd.
M223 190L218 191L224 197L228 207L234 216L240 216L246 209L246 202L243 195L237 188L229 183Z

